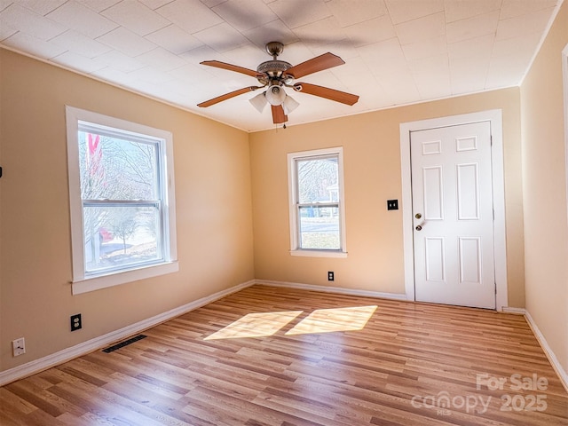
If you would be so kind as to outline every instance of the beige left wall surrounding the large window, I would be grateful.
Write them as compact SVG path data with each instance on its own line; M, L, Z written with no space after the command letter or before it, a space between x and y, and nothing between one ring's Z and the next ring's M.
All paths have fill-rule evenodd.
M0 371L254 278L247 133L11 51L0 61ZM179 272L71 296L66 105L173 133Z

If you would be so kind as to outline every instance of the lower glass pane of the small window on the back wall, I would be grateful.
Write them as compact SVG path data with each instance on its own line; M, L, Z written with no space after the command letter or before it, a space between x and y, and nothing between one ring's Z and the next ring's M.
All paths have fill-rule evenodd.
M339 250L339 209L337 207L300 207L300 248Z

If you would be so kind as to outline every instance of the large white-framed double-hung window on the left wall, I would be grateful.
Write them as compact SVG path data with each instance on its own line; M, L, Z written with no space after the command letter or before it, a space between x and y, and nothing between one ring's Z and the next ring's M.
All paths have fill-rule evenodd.
M177 271L170 132L67 106L73 293Z

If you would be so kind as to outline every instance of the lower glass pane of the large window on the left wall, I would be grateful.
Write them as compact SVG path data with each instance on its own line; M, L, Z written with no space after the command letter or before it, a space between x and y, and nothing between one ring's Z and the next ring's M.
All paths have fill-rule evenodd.
M83 215L86 272L162 260L158 207L84 207Z

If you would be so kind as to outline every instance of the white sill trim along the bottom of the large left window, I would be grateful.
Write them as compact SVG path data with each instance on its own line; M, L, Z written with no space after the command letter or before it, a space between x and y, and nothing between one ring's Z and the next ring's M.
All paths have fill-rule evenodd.
M177 261L153 264L132 271L114 272L109 273L108 275L99 275L97 277L83 278L83 280L74 280L71 287L73 295L75 296L99 290L101 288L114 287L126 284L127 282L145 280L146 278L177 272L178 270L179 265L177 264Z

